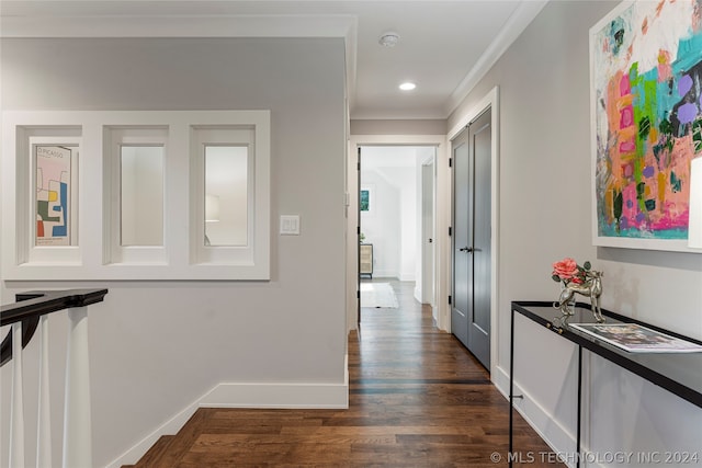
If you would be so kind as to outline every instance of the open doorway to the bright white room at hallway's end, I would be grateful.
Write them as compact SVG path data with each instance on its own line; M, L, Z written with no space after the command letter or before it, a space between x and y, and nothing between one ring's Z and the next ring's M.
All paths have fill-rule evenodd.
M435 158L433 146L359 147L359 322L397 308L400 288L435 303Z

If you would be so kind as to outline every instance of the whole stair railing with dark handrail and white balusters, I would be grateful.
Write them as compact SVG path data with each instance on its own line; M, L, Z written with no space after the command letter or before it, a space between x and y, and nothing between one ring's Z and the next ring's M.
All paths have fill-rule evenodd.
M102 301L105 294L107 294L106 289L26 293L18 295L18 303L2 306L0 326L12 326L10 336L2 343L3 363L8 358L12 359L10 468L24 468L26 466L22 353L23 346L32 339L32 333L37 322L39 329L39 380L36 467L52 467L50 392L48 385L49 330L47 315L64 309L68 309L69 329L66 354L61 466L64 468L92 468L88 306ZM5 356L9 350L4 350L4 347L11 347L11 357Z

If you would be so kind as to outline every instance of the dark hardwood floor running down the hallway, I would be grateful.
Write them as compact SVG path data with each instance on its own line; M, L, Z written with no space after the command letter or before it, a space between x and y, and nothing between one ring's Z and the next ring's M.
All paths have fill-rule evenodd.
M437 330L414 283L373 282L389 282L399 308L362 308L348 410L201 409L137 466L506 467L509 404L488 373ZM523 466L564 466L514 418Z

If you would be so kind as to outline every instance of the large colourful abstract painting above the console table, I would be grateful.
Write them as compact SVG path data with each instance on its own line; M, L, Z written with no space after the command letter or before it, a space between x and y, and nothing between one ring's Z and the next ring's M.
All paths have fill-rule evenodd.
M593 242L687 250L702 151L702 4L620 4L590 30Z

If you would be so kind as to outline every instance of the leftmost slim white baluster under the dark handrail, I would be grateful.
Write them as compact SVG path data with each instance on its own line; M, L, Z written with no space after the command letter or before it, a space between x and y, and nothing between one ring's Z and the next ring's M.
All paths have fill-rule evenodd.
M10 466L24 467L24 402L22 385L22 322L12 323L12 396L10 407Z

